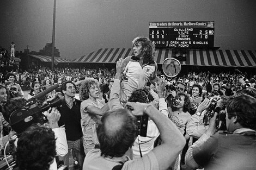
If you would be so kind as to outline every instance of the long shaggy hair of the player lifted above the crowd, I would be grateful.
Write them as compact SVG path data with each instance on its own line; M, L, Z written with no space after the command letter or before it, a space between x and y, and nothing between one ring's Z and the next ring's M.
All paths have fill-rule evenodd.
M138 43L141 43L142 52L144 53L144 56L146 56L144 57L143 64L153 64L155 62L154 57L156 54L154 43L149 40L148 37L141 36L138 36L132 40L132 46L138 46Z

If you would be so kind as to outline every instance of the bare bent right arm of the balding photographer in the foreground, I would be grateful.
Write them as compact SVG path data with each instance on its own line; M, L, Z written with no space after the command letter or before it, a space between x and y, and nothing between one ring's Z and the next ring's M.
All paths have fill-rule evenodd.
M155 154L157 162L159 162L159 169L167 169L185 146L185 138L176 125L153 105L127 102L126 106L133 109L133 115L147 114L155 122L160 131L162 144L151 152Z

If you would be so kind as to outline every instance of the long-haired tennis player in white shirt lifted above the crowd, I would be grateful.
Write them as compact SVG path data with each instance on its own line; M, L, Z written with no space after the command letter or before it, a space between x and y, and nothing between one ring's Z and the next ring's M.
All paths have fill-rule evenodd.
M155 45L147 37L136 37L132 41L133 55L125 58L123 62L124 80L120 88L121 102L127 102L127 97L138 89L143 89L145 84L155 85L157 64L154 61Z

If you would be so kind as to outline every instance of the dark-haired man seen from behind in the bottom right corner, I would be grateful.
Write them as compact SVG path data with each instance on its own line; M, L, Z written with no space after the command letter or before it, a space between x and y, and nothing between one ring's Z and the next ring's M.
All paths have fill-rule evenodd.
M231 98L225 109L227 131L215 134L217 113L209 128L186 153L186 165L205 169L255 169L256 99Z

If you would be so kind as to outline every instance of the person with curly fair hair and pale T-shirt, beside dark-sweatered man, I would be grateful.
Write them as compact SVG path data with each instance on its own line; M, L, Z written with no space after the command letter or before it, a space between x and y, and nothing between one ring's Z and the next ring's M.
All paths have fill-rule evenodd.
M108 104L98 99L100 95L99 82L94 78L84 80L80 87L81 117L83 125L83 145L84 152L87 154L94 149L97 141L96 125L100 121L101 116L106 112Z

